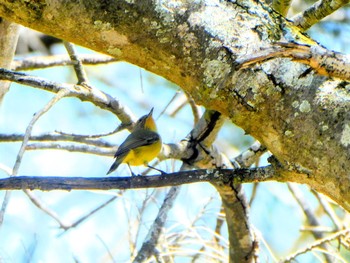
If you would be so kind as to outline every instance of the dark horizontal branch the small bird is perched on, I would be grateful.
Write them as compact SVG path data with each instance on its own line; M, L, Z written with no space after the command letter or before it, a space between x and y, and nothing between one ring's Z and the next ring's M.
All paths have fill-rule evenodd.
M178 186L182 184L210 182L229 184L230 182L251 183L255 181L281 180L272 166L251 169L200 169L181 171L163 175L133 177L43 177L16 176L0 179L0 190L111 190L141 189Z

